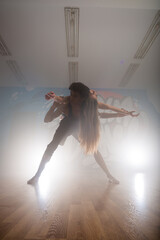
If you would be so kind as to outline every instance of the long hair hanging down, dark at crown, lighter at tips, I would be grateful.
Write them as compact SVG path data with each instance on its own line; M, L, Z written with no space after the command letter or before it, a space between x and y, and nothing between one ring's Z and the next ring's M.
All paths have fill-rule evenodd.
M81 82L72 83L69 89L84 98L80 114L79 141L85 153L94 153L100 138L97 100L90 96L90 89Z

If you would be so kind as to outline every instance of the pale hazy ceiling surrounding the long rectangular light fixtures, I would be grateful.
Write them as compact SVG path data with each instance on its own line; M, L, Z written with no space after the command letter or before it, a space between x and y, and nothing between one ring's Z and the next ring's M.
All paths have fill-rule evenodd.
M67 57L64 7L78 7L79 56ZM0 36L11 56L0 55L0 87L68 87L69 61L91 88L155 88L160 79L160 34L135 59L160 9L154 0L0 0ZM16 61L17 79L7 61ZM126 78L131 64L138 64Z

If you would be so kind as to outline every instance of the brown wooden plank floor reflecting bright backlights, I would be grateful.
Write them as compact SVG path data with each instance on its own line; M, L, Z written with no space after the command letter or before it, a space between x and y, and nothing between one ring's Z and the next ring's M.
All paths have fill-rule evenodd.
M2 179L0 239L158 240L159 184L147 174L123 172L119 185L100 169L51 179L50 186Z

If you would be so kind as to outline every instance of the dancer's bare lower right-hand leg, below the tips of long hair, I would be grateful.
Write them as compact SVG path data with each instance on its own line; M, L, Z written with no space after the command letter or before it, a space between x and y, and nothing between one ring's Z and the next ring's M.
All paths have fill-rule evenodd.
M94 153L94 158L95 158L96 162L98 163L98 165L103 169L103 171L107 175L109 182L119 184L119 181L116 178L114 178L111 175L111 173L109 172L109 170L106 166L106 163L104 162L104 159L99 151L97 151L97 153Z

